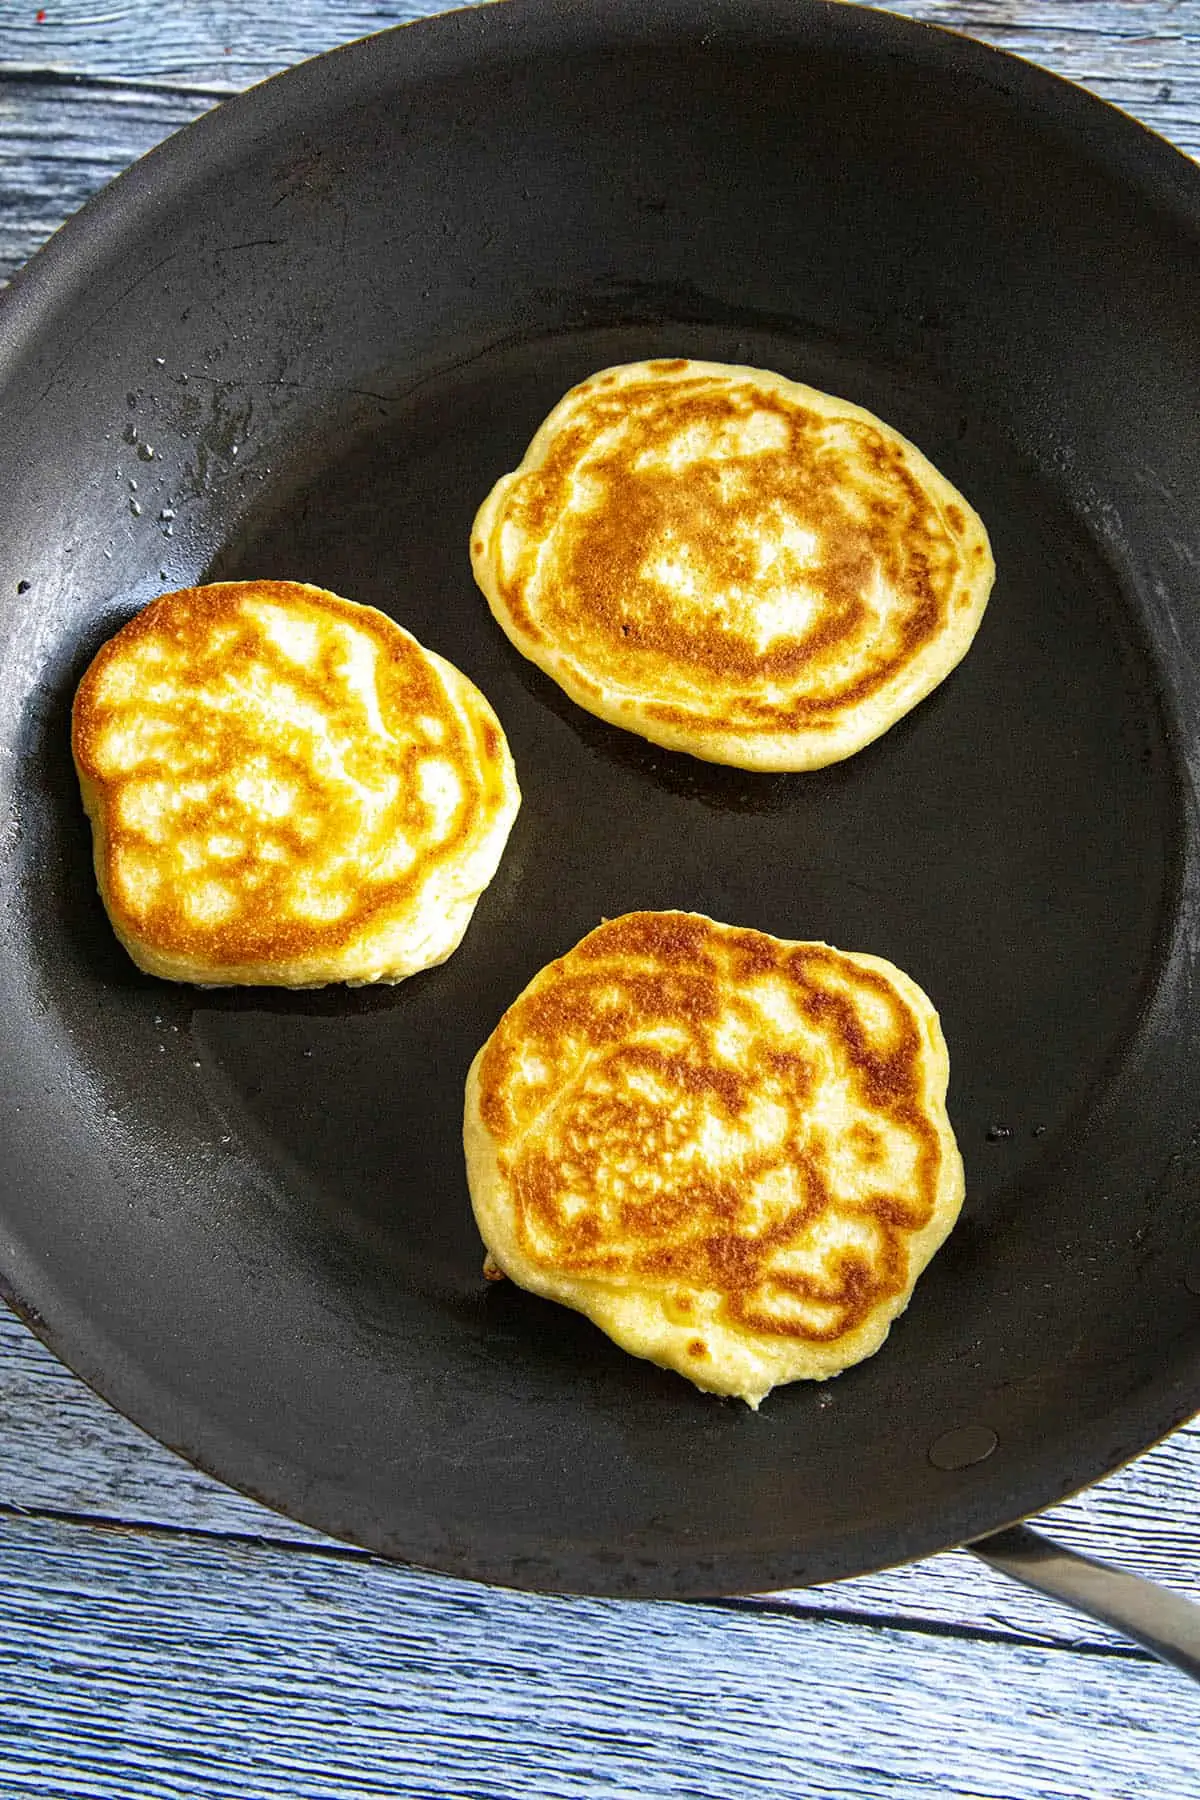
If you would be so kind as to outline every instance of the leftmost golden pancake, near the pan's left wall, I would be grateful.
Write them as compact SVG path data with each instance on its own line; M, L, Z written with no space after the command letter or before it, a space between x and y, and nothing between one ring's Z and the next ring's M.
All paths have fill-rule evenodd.
M520 805L466 675L299 581L155 599L83 677L72 749L117 938L205 986L444 961Z

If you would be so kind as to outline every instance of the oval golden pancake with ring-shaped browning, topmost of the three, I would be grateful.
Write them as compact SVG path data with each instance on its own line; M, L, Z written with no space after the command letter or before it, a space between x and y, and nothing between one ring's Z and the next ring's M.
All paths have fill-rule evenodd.
M588 713L739 769L820 769L966 653L982 520L871 412L763 369L635 362L484 500L475 580Z

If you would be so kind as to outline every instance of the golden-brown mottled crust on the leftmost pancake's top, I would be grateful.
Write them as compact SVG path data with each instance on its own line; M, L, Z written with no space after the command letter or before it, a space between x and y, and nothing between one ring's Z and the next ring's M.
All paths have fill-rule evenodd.
M401 724L430 716L439 722L444 736L435 743L421 743L401 731L399 743L390 747L378 736L360 747L354 742L354 709L344 706L338 718L335 653L326 646L311 671L297 666L246 614L246 601L281 605L317 623L342 621L356 634L367 634L378 652L376 684L383 722ZM223 673L237 671L248 662L266 666L284 679L300 702L329 720L331 731L342 729L351 770L360 758L367 779L378 778L381 763L387 774L398 778L396 797L380 835L405 833L425 844L432 810L419 794L417 763L428 754L452 763L466 794L453 830L432 848L425 844L423 853L405 873L369 887L356 887L338 918L290 914L288 887L297 868L327 864L349 844L356 828L353 806L345 805L333 783L322 781L300 740L295 745L264 738L246 742L237 729L237 715L209 707L201 698L189 704L175 691L169 706L158 711L139 695L126 707L106 704L101 698L106 670L131 650L153 644L162 644L169 657L180 659L196 677L198 693L205 682L219 682ZM376 920L394 916L412 904L439 869L450 869L504 806L500 763L504 740L482 695L477 695L479 706L470 711L453 706L441 675L444 664L439 664L441 659L432 657L408 632L376 608L299 581L221 581L180 589L151 601L110 637L76 693L72 752L94 826L99 887L113 927L135 959L144 961L148 956L180 959L212 970L272 963L300 965L313 956L331 961L358 943ZM203 797L196 797L194 803L178 799L173 810L171 826L176 841L189 833L205 837L223 823L228 823L232 835L248 837L245 815L232 794L232 783L245 769L248 752L264 765L266 774L286 778L299 792L304 828L299 828L291 815L281 817L270 830L248 841L243 853L221 862L221 878L239 898L232 920L201 923L189 918L180 882L166 882L137 916L124 905L117 860L139 842L139 833L119 819L121 792L128 781L153 776L155 767L148 761L126 776L106 772L104 733L121 722L122 711L140 720L153 718L162 729L164 747L171 758L184 756L182 769L169 772L173 781L185 783L189 770L194 770L203 783ZM153 844L148 844L148 851L155 853ZM219 979L219 974L210 979Z

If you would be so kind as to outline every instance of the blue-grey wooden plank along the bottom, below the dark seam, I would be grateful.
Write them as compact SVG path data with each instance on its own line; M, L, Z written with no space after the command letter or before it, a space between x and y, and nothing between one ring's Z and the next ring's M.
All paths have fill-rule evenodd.
M1200 1724L1200 1697L1135 1656L76 1525L7 1526L0 1588L5 1800L1196 1795L1162 1723Z

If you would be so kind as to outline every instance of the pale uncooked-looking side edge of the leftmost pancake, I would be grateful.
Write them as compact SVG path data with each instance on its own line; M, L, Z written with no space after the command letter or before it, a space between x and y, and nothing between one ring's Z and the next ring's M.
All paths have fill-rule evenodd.
M304 587L317 598L322 598L326 592L324 589L311 587L309 583L293 585ZM500 743L497 769L500 772L504 794L500 806L497 806L495 814L488 821L486 830L475 835L470 848L455 860L455 864L435 871L435 877L430 878L421 891L416 907L405 909L403 916L398 920L372 920L363 927L362 934L353 943L333 952L317 950L302 958L218 965L157 949L153 943L140 938L137 927L126 920L119 902L108 887L110 835L104 792L103 787L92 781L79 767L72 743L72 761L79 779L83 810L92 824L92 866L95 871L95 886L99 887L99 895L117 941L133 963L137 963L137 967L148 976L158 976L164 981L185 981L201 988L320 988L333 983L342 983L353 988L374 985L389 986L398 981L405 981L408 976L416 976L425 968L435 968L439 963L444 963L462 941L479 898L500 866L504 846L507 844L513 821L520 810L522 796L516 783L513 752L509 751L500 720L475 682L457 670L453 662L439 657L435 650L426 650L425 644L412 637L412 632L396 625L396 621L385 612L380 612L376 607L362 607L358 601L353 601L353 605L360 607L363 614L372 616L376 621L381 619L390 632L401 632L412 644L416 644L421 655L434 664L446 689L446 698L470 731L475 754L480 763L488 761L484 724L495 725ZM369 968L367 974L362 974L363 967Z

